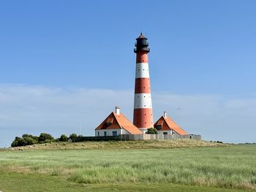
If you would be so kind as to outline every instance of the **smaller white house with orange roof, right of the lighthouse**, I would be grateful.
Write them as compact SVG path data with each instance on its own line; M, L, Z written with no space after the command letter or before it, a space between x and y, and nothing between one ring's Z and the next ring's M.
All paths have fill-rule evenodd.
M178 134L187 135L187 131L184 131L180 126L178 126L170 117L167 117L167 112L154 123L154 128L157 129L158 134Z

